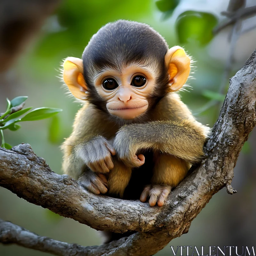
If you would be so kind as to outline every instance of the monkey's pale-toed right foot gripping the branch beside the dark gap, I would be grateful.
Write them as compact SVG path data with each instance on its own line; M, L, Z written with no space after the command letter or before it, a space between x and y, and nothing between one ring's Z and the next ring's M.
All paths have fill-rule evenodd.
M149 197L150 206L156 205L156 202L158 206L163 206L171 190L172 187L168 185L147 185L141 193L140 201L144 203Z

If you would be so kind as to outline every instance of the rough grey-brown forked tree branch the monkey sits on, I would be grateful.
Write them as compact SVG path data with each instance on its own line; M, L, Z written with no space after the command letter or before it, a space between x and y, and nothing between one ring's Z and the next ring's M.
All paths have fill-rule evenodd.
M188 232L191 221L211 197L230 183L244 142L256 125L256 50L230 79L230 86L206 159L173 190L166 204L150 207L139 200L97 196L68 175L58 175L28 144L0 148L0 186L30 203L41 205L97 230L138 231L107 245L83 247L40 237L10 222L0 221L0 242L56 255L152 255L173 238Z

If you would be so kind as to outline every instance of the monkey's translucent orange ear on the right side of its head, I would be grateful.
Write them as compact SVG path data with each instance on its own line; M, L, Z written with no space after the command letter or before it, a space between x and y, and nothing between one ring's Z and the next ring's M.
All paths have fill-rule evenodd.
M190 58L183 48L174 46L165 54L165 65L170 76L170 91L178 91L188 79Z

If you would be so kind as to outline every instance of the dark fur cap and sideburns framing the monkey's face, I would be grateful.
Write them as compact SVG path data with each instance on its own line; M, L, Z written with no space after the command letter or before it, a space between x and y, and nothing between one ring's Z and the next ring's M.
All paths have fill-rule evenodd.
M105 101L96 92L92 76L104 68L121 71L129 64L154 64L157 71L156 89L149 96L149 111L167 92L168 73L164 57L168 51L164 38L150 26L128 20L108 23L92 36L83 52L84 79L87 99L108 113Z

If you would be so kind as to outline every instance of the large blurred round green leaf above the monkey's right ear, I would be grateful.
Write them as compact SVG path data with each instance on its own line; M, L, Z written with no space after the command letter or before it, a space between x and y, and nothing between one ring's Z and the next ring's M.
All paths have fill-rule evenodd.
M191 39L201 46L208 44L212 38L212 29L217 25L217 18L208 12L187 11L179 15L175 27L181 44Z

